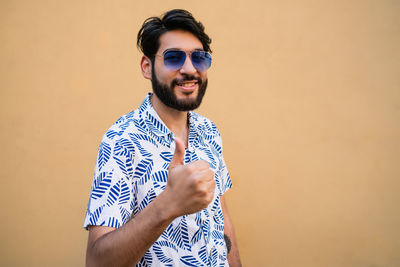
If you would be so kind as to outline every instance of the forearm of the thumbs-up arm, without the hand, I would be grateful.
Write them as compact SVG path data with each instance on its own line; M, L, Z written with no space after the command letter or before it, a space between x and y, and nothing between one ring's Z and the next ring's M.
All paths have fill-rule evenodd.
M122 227L89 240L86 265L133 266L175 218L165 207L163 194Z

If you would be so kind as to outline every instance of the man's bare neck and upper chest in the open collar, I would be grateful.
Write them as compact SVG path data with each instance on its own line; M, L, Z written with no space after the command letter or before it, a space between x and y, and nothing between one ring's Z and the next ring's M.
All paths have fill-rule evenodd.
M184 141L187 147L189 134L188 112L166 106L155 94L151 95L150 103L168 129Z

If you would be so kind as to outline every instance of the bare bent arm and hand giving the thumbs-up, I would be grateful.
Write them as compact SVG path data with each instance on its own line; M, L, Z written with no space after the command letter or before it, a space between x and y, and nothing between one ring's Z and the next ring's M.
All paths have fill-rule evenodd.
M91 226L86 266L135 265L177 217L206 208L214 196L214 173L205 161L183 165L185 146L176 148L165 190L138 215L118 229Z

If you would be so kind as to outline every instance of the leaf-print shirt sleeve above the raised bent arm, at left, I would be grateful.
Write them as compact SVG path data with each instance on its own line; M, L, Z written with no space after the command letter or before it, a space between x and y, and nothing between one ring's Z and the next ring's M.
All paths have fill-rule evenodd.
M122 137L106 135L99 146L84 227L101 225L118 228L134 208L132 183L134 146Z

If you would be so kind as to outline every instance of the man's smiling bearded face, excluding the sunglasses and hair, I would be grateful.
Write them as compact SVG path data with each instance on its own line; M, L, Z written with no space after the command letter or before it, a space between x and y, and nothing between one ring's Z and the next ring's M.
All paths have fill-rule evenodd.
M187 52L183 66L171 70L164 65L162 57L166 50ZM200 106L207 88L207 71L194 68L190 52L202 50L203 45L193 34L174 30L161 35L160 47L152 64L152 85L155 95L171 108L188 111Z

